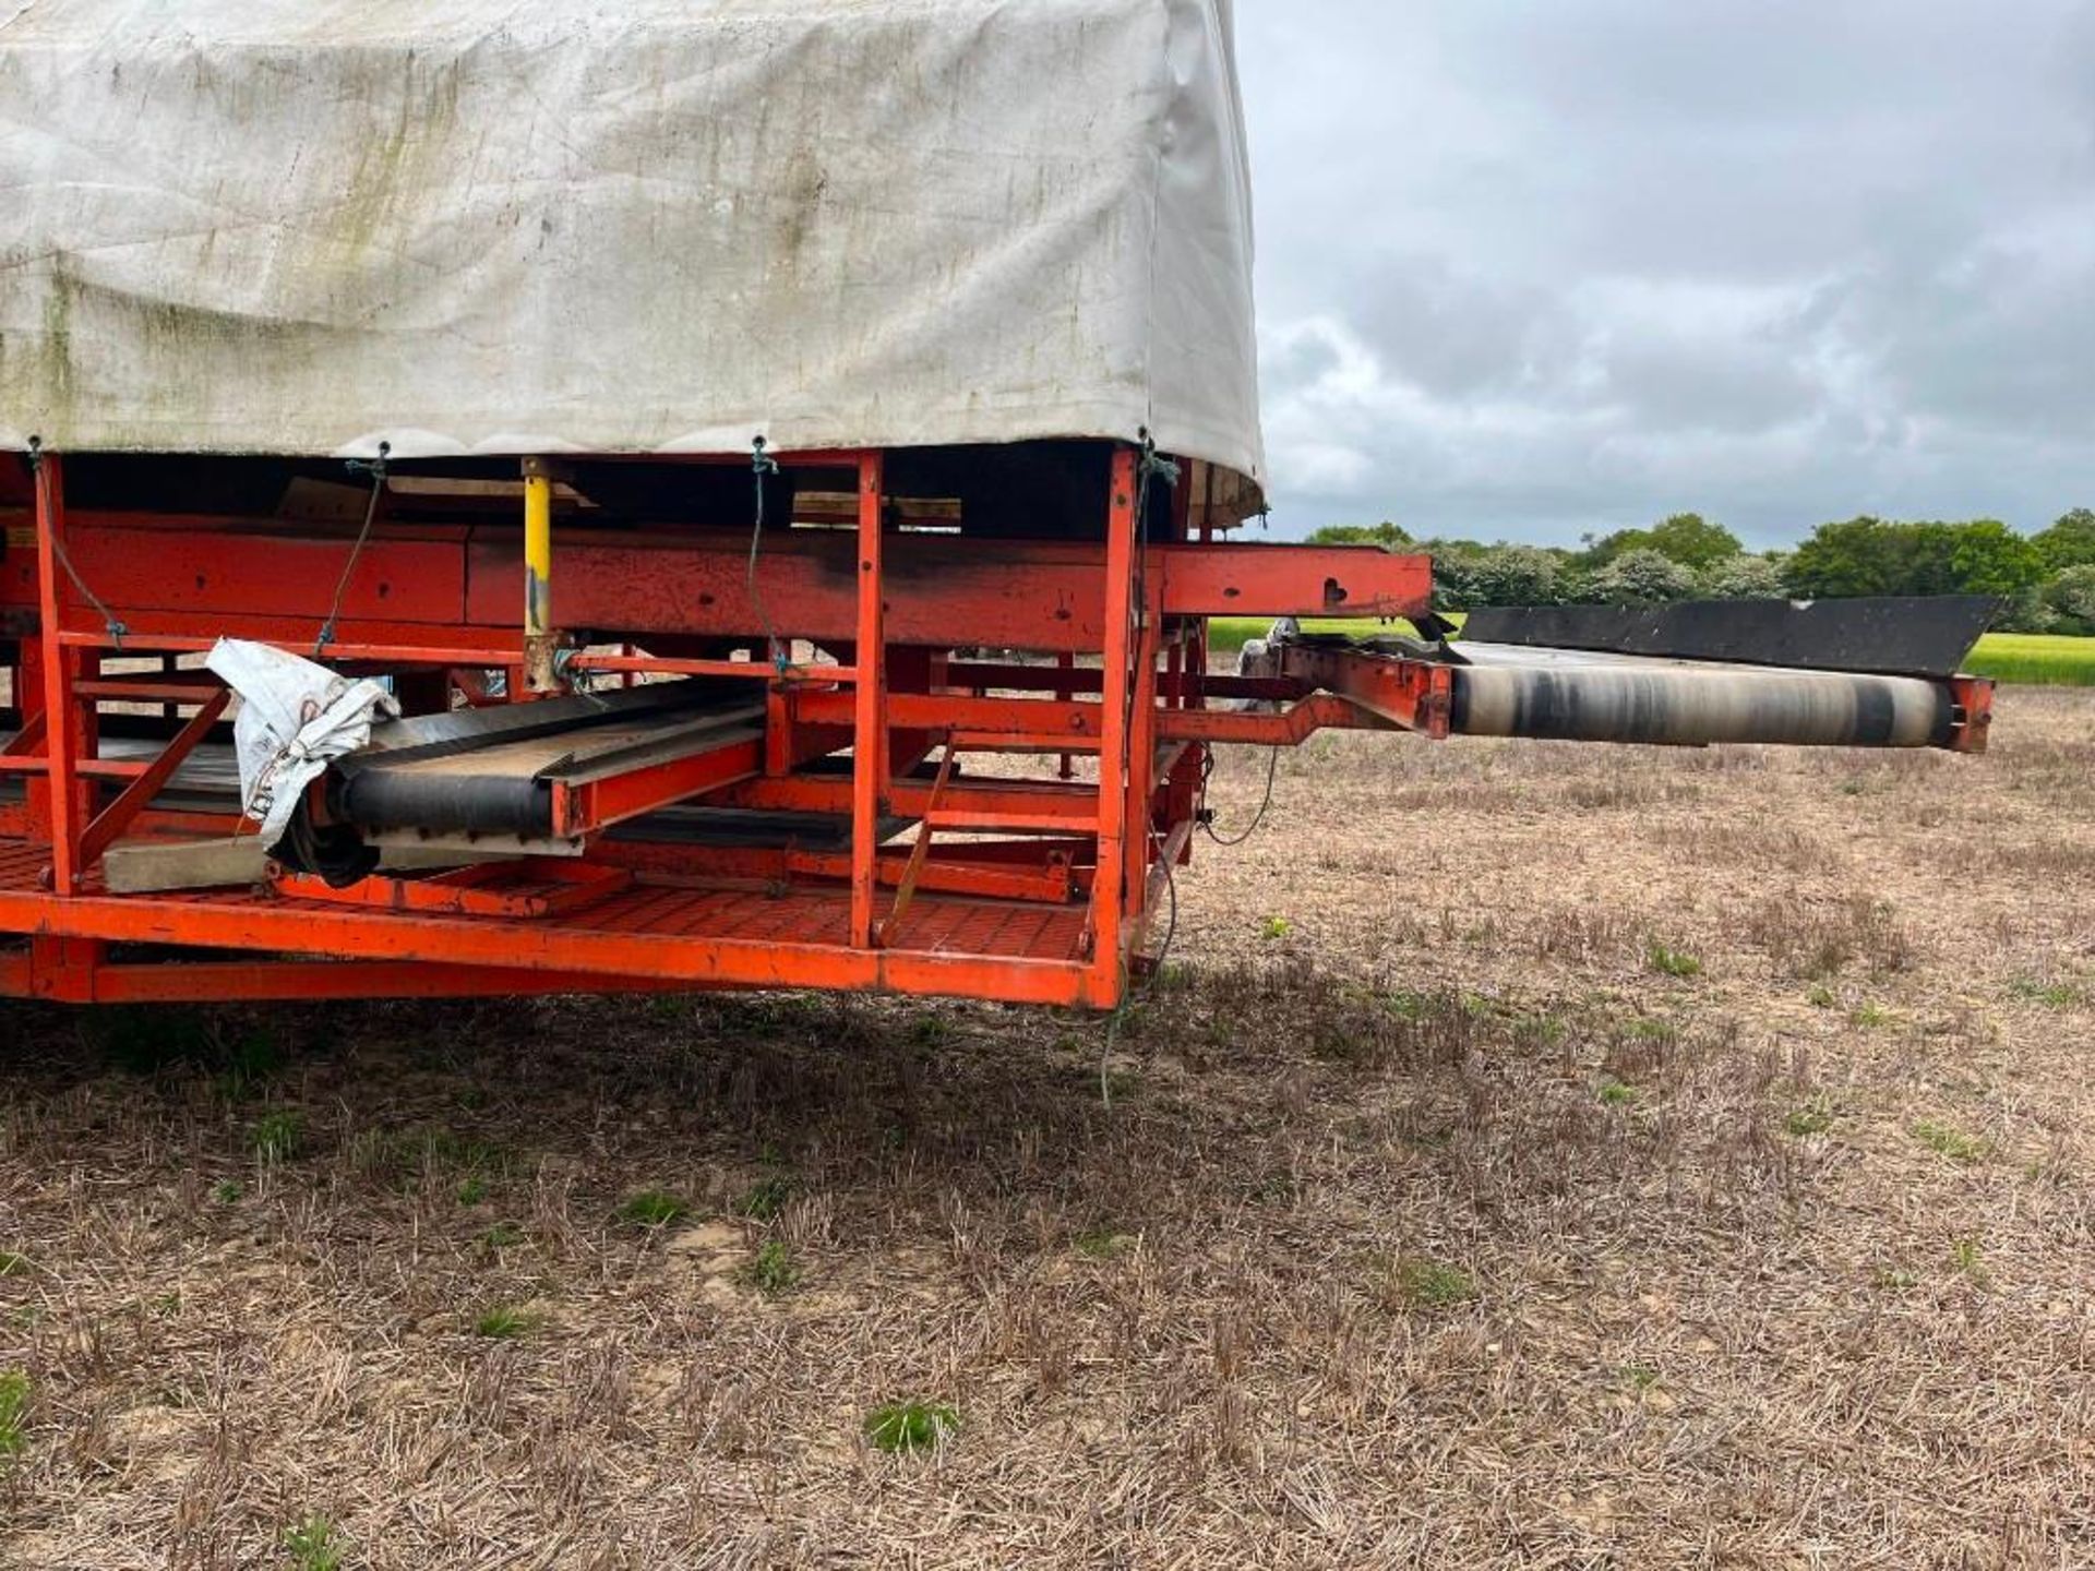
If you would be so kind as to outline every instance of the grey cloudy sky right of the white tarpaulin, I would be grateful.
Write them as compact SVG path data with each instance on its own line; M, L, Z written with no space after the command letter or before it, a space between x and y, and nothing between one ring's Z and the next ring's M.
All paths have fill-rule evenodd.
M1238 0L1274 530L2095 505L2089 0Z

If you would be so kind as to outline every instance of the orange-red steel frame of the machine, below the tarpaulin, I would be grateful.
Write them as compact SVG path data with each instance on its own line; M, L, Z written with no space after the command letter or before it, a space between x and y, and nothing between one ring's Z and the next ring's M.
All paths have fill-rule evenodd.
M341 897L285 876L115 894L101 861L124 838L239 832L166 798L228 704L210 677L170 674L170 658L220 635L310 649L348 538L270 519L69 513L63 459L34 457L0 555L19 710L0 777L25 785L0 802L0 995L823 987L1110 1008L1142 964L1163 869L1190 855L1207 746L1288 746L1328 725L1446 733L1446 672L1431 666L1207 672L1207 616L1408 616L1429 601L1425 557L1217 545L1205 526L1190 538L1184 486L1169 517L1144 515L1152 463L1138 448L1115 452L1102 545L899 532L884 455L779 463L857 482L855 530L777 530L758 557L777 635L840 664L765 658L742 532L559 530L555 616L591 637L566 674L748 679L763 739L564 796L557 829L587 840L580 867L381 878ZM522 700L522 578L517 528L381 517L327 660L476 704L488 702L482 672L505 668ZM723 641L752 658L719 658ZM155 672L117 668L138 658ZM103 758L98 721L124 702L186 712L157 760ZM1037 773L970 773L980 754L1031 758ZM1096 760L1096 781L1077 760ZM848 850L652 838L637 815L672 800L840 815ZM620 819L629 832L603 838ZM892 819L916 821L911 844L882 844ZM134 943L197 953L126 959L117 947Z

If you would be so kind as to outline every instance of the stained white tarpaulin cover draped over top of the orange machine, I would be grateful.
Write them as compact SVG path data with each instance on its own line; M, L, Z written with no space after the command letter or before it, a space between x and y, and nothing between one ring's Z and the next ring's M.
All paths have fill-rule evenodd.
M0 0L0 444L1263 475L1230 0Z

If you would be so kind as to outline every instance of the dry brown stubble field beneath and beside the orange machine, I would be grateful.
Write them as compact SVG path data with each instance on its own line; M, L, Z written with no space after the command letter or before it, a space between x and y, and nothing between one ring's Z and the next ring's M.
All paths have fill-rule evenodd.
M1110 1108L995 1008L8 1005L0 1565L2076 1563L2095 695L2001 710L1320 739Z

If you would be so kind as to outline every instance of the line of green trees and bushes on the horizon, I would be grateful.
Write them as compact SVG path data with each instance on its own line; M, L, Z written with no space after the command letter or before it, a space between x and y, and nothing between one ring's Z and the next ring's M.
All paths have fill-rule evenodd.
M1322 545L1379 545L1433 555L1435 603L1636 603L1670 599L1848 599L1854 595L1994 595L2001 626L2095 635L2095 509L2076 507L2036 534L1999 519L1963 524L1850 517L1821 524L1795 551L1747 551L1701 513L1647 530L1586 536L1578 551L1542 545L1414 540L1395 524L1337 524Z

